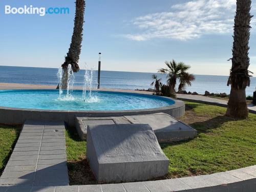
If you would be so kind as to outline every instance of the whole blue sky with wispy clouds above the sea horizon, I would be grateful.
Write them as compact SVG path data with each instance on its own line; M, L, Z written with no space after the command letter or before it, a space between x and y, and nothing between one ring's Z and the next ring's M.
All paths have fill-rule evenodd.
M1 0L0 65L58 68L73 32L74 0ZM191 73L228 75L235 0L86 1L79 65L102 70L156 72L165 60L184 61ZM70 14L5 14L11 7L68 7ZM256 5L251 13L256 15ZM256 18L254 18L256 19ZM256 74L256 22L249 70Z

